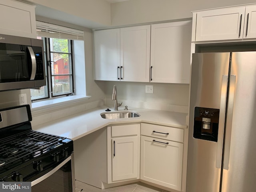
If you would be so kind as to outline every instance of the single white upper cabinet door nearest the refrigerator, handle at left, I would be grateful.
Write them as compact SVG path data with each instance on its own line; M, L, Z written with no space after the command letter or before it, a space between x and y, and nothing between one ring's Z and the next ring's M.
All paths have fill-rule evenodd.
M151 82L189 84L191 31L192 21L151 26Z

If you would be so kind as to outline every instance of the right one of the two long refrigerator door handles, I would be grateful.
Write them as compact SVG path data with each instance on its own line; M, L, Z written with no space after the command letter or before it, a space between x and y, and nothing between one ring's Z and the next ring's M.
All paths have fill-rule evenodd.
M228 166L229 166L232 118L233 118L234 97L235 97L235 87L236 87L235 75L230 76L229 86L230 88L229 88L229 95L228 95L228 110L227 110L226 134L225 134L225 144L224 144L224 158L223 158L223 168L226 170L228 170Z

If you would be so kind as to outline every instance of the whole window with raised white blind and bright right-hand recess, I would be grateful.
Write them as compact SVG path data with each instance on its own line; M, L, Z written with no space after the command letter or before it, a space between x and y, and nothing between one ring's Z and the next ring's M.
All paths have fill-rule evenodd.
M75 80L78 87L81 84L74 73L80 78L80 73L84 73L84 52L79 55L75 53L84 50L84 32L40 21L36 21L36 29L38 38L44 41L47 82L40 89L31 89L31 100L40 101L73 94ZM77 61L76 71L73 57ZM80 88L76 89L76 93L85 95Z

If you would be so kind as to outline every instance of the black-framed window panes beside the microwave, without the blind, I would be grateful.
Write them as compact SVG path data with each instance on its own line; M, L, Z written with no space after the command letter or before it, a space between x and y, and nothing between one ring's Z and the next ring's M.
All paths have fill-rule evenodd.
M31 89L31 100L66 96L74 92L72 40L43 38L46 61L46 86Z

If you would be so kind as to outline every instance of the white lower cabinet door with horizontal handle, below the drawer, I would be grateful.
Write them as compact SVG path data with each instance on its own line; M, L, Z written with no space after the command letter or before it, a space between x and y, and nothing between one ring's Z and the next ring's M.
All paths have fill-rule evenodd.
M140 179L180 191L182 157L182 143L141 136Z

